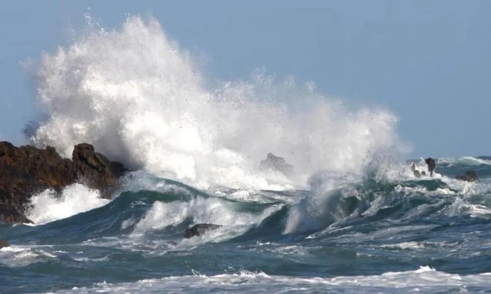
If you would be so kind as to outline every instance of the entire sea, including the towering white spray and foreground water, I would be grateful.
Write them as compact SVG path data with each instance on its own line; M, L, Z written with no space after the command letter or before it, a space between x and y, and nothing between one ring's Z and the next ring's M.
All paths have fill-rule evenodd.
M34 194L34 224L0 224L1 293L491 291L491 157L416 178L384 107L264 69L214 80L154 19L87 22L26 64L39 115L25 134L134 172L112 199L75 183ZM260 169L269 152L293 172ZM480 182L455 179L468 170ZM198 223L221 226L184 238Z

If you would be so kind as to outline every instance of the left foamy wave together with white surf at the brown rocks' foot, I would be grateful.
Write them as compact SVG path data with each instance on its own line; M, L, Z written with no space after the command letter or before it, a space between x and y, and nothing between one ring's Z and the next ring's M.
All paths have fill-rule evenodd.
M284 205L241 202L172 180L149 177L142 182L150 185L154 181L150 185L154 191L140 190L132 182L134 191L125 191L111 201L99 198L96 191L80 184L67 187L59 198L45 191L33 197L27 215L35 221L37 234L43 236L42 244L61 242L57 240L60 236L63 242L72 243L122 235L151 238L152 234L166 235L164 241L181 241L185 228L196 223L223 225L218 231L224 233L224 239L219 240L228 240ZM20 229L16 234L30 235L32 229Z

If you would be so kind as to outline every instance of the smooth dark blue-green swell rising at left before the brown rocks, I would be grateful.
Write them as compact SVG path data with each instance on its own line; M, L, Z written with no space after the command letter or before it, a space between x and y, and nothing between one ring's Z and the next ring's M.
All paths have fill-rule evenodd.
M218 205L225 207L230 213L254 216L268 207L279 204L278 202L267 204L242 202L208 194L176 181L164 180L164 182L167 185L166 192L125 191L104 206L65 219L37 226L3 226L6 229L6 235L11 240L22 240L23 243L35 242L40 245L71 244L100 237L128 235L135 231L136 233L155 231L175 233L177 230L180 235L183 235L184 229L195 222L196 216L192 213L176 223L162 226L159 223L150 223L150 226L141 228L142 225L140 225L138 227L143 221L149 219L152 213L158 211L156 207L165 205L176 204L177 210L181 211L185 210L187 205L195 205L195 211L206 210ZM172 212L179 213L179 211ZM165 221L165 217L172 218L172 215L160 216L162 221ZM151 219L151 221L157 222L159 218Z

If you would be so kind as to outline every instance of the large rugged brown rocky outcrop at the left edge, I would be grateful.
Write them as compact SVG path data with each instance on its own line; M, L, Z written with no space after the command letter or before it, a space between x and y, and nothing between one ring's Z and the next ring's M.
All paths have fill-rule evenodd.
M59 193L75 182L98 189L108 198L126 171L122 164L95 152L90 144L76 145L70 160L62 158L54 147L15 147L0 142L0 221L30 222L24 211L33 194L47 188Z

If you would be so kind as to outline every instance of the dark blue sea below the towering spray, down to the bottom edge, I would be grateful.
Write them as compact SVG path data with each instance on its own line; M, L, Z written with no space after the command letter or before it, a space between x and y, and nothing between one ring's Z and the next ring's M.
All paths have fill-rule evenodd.
M452 179L467 170L481 182ZM309 189L279 192L200 191L136 173L127 181L145 178L146 190L94 207L86 196L86 211L45 224L0 225L12 244L0 251L0 292L491 291L491 160L441 159L437 171L320 173ZM81 201L77 189L57 209ZM203 222L223 226L183 238Z

